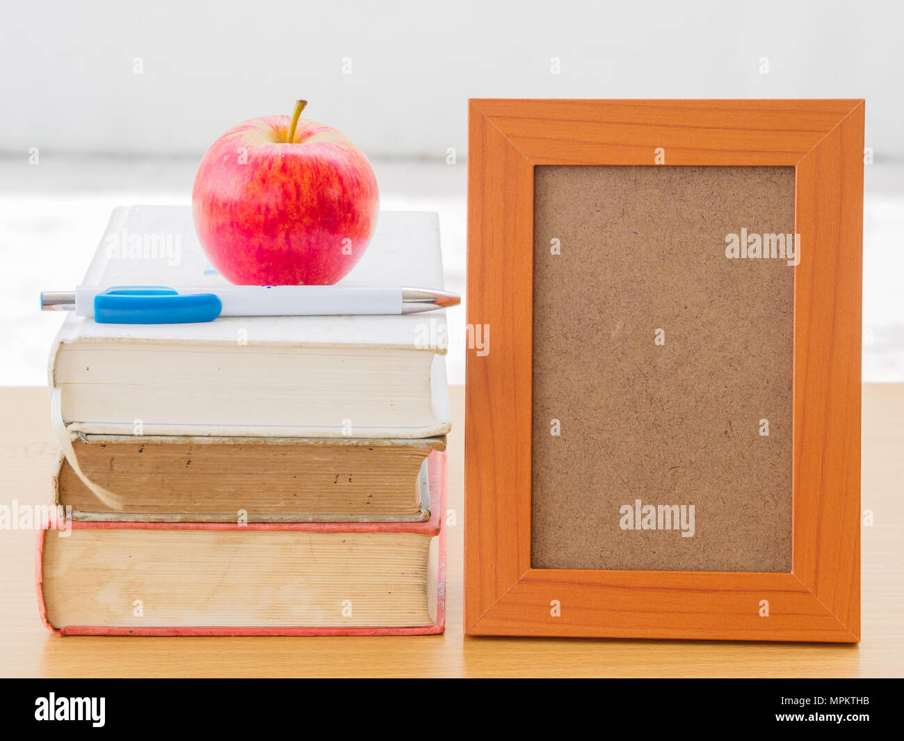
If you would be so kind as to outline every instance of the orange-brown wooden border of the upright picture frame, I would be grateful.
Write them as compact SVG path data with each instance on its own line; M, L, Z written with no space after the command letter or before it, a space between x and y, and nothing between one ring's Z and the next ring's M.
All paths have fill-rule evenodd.
M860 640L863 100L470 100L465 632ZM794 166L790 573L531 567L535 165ZM760 617L760 600L769 616ZM551 601L561 614L551 616Z

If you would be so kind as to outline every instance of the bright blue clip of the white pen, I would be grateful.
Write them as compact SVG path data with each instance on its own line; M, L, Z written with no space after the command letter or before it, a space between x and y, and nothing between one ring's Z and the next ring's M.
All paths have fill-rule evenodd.
M94 297L99 324L188 324L212 321L221 310L212 293L183 296L166 286L115 286Z

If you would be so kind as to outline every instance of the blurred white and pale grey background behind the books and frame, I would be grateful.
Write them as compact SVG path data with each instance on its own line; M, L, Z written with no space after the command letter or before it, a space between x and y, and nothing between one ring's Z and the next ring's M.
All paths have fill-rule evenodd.
M865 97L864 376L902 380L902 28L892 2L5 4L0 385L45 383L38 292L80 280L110 208L188 203L214 138L299 97L372 158L384 208L440 213L452 290L468 97Z

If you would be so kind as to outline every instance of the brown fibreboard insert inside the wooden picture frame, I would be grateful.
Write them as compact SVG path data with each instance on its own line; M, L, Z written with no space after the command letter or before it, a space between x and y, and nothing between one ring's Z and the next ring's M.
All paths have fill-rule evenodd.
M535 169L532 566L791 570L793 233L792 167Z

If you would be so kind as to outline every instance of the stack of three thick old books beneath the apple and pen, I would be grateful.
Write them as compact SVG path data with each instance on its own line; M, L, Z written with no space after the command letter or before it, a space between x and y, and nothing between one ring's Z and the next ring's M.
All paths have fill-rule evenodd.
M118 209L84 285L222 284L191 211ZM436 214L384 212L347 285L441 289ZM42 619L61 634L435 633L442 311L117 325L52 351Z

